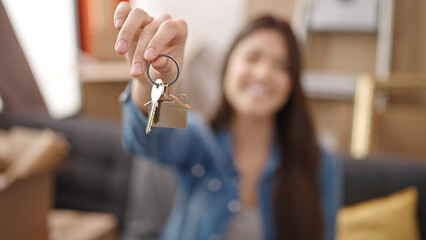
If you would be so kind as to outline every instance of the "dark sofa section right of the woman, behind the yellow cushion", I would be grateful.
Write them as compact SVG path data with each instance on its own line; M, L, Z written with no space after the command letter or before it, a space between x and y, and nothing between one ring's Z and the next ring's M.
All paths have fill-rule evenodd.
M417 217L426 237L426 162L418 159L372 156L364 160L342 157L343 205L384 197L410 186L419 192Z

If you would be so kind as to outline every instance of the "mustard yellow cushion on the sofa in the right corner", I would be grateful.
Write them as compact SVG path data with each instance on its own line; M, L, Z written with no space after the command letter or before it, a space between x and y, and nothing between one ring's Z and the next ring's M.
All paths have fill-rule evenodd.
M418 191L410 187L386 197L342 208L337 240L419 240Z

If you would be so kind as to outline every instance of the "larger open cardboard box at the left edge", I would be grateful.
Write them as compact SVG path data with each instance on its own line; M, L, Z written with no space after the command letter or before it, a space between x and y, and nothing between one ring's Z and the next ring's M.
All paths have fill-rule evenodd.
M49 239L51 170L68 153L67 142L48 129L14 127L0 132L0 146L0 239Z

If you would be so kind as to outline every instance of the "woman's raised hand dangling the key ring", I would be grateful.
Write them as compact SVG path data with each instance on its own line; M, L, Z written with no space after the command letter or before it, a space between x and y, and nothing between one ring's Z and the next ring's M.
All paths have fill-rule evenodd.
M126 54L130 73L138 79L133 81L132 100L147 114L149 109L143 105L150 100L152 86L145 74L148 61L152 61L154 79L172 79L176 75L173 62L158 56L173 56L182 66L188 32L186 22L172 19L168 14L154 18L142 9L121 2L114 13L114 26L120 30L115 51Z

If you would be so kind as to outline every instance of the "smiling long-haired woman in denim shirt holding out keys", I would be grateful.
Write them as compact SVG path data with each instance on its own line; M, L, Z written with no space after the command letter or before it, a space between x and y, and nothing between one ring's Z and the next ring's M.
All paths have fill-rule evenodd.
M174 167L178 189L161 239L334 239L340 204L339 167L322 152L300 86L300 57L289 25L263 17L233 43L223 69L223 104L206 123L190 114L188 129L145 134L152 83L168 82L181 65L183 20L151 17L121 3L116 51L135 78L122 95L123 144ZM156 78L154 78L156 79Z

